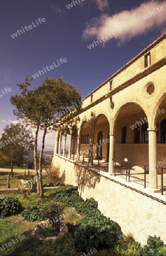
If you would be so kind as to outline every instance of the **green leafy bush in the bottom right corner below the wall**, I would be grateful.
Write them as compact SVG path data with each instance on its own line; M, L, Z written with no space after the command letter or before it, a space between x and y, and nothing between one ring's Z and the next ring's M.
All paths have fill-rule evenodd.
M160 240L160 237L149 236L147 240L147 245L144 246L143 256L165 256L166 255L166 246L164 242Z

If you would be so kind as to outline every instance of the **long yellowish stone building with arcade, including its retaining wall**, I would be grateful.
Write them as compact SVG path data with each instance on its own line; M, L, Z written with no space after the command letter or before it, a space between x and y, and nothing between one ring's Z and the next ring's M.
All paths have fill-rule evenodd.
M166 173L165 38L166 33L84 98L77 130L70 127L69 148L67 134L57 132L53 156L66 183L78 185L82 197L94 197L106 216L142 243L150 234L166 242L160 181ZM138 182L133 187L128 177L139 173L146 186ZM135 222L138 214L141 228Z

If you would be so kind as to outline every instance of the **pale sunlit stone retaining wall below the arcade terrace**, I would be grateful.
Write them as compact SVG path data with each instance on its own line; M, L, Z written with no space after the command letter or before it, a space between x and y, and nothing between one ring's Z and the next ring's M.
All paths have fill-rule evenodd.
M65 184L78 185L83 199L94 197L101 212L117 221L124 234L132 234L142 245L150 235L160 236L166 243L166 207L163 203L82 168L72 160L54 155L53 165L60 167Z

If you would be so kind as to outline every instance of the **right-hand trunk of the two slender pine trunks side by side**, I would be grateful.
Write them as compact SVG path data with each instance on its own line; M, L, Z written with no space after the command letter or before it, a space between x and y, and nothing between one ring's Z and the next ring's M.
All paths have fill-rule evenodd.
M44 143L45 143L45 135L47 134L47 128L44 128L44 134L42 139L42 148L40 150L39 156L39 183L40 183L40 198L44 197L44 189L43 189L43 177L42 177L42 160L43 160L43 151L44 151Z

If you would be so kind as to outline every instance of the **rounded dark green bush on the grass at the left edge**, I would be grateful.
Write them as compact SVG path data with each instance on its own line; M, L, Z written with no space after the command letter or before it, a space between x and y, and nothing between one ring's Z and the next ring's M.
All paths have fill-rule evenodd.
M0 197L0 216L1 218L10 217L20 213L22 205L14 197Z

